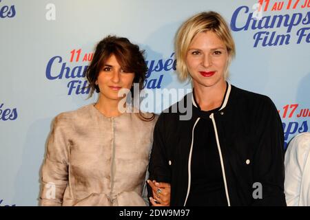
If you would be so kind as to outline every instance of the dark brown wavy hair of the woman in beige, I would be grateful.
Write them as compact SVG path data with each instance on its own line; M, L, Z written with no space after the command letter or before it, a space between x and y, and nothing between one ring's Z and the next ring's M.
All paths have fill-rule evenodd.
M94 52L94 57L90 66L87 67L85 76L88 80L90 87L90 96L94 94L94 91L99 93L99 86L95 84L99 72L101 71L103 65L110 56L116 57L116 60L121 65L123 69L126 69L127 72L134 73L133 83L139 84L139 91L143 89L143 83L147 74L147 64L145 63L144 50L140 50L138 45L131 43L125 37L118 36L106 36L96 45L96 50ZM132 98L134 97L134 87L130 88ZM140 110L139 110L140 111ZM154 114L151 118L145 118L141 112L139 113L143 120L152 120Z

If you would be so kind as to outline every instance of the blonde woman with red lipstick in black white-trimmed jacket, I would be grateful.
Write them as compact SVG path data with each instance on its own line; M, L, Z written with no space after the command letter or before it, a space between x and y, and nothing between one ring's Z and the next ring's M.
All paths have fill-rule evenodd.
M171 184L171 206L285 206L280 116L267 96L227 82L236 49L223 17L189 18L176 34L175 52L178 76L192 80L193 92L174 107L189 103L192 117L182 120L174 107L161 113L150 180ZM166 191L149 189L152 203Z

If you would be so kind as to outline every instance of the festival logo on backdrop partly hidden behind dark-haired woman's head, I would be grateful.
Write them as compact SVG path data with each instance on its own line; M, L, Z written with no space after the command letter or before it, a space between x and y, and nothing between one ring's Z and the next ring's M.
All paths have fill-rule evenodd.
M94 53L85 53L82 49L71 50L66 56L69 62L65 61L63 56L53 56L46 65L45 76L48 80L70 80L67 84L68 96L89 94L90 88L87 87L85 73L93 56ZM146 61L146 63L148 71L143 85L146 89L161 89L165 74L163 72L176 70L174 53L169 58Z

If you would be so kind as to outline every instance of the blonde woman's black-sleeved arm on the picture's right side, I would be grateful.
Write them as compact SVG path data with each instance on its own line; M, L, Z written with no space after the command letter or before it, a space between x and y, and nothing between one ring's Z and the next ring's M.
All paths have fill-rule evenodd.
M284 194L284 133L276 106L265 98L258 109L254 155L254 182L262 186L262 198L253 206L286 206ZM256 190L256 188L254 188Z

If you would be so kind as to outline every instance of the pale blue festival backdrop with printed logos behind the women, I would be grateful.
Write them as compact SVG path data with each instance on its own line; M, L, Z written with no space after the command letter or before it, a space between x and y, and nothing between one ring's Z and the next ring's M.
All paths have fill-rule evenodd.
M231 26L237 55L230 83L275 102L286 143L308 131L309 7L309 0L1 0L0 206L37 205L52 119L96 101L79 87L98 41L116 34L140 45L146 89L189 89L174 72L174 35L205 10ZM154 111L166 101L155 100Z

